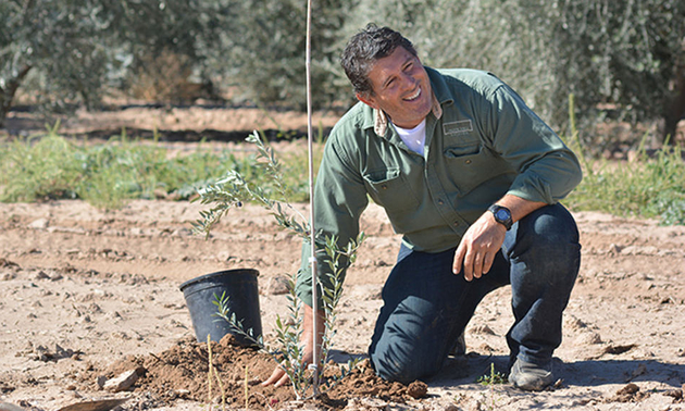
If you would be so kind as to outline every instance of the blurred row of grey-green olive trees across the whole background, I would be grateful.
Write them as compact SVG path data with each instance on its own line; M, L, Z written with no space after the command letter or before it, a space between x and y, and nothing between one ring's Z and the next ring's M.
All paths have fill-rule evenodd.
M611 141L589 133L595 123L663 119L685 70L681 0L314 0L313 9L316 108L352 102L338 55L369 22L401 30L428 65L494 72L561 133L575 95L581 138L598 152ZM46 107L94 108L105 90L130 92L146 71L171 77L161 70L169 55L177 82L301 109L306 10L304 0L0 0L0 122L17 82Z

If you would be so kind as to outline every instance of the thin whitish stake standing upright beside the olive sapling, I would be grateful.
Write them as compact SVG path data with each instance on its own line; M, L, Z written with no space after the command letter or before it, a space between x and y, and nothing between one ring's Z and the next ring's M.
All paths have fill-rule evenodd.
M312 61L312 43L311 43L311 22L312 22L312 0L307 0L307 52L306 52L306 72L307 72L307 148L309 151L309 234L312 253L309 259L312 271L312 312L313 327L312 338L314 341L314 356L312 358L312 370L314 372L313 396L319 395L319 354L316 349L316 320L319 319L319 301L316 296L316 242L314 229L314 155L313 155L313 137L312 137L312 89L311 89L311 61Z

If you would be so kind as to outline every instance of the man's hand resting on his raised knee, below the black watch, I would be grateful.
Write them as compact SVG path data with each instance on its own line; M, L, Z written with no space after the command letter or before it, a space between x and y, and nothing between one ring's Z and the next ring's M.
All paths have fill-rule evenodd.
M485 212L469 227L457 247L452 272L459 274L463 265L464 278L468 282L487 274L495 256L505 242L506 234L507 228L495 221L493 213Z

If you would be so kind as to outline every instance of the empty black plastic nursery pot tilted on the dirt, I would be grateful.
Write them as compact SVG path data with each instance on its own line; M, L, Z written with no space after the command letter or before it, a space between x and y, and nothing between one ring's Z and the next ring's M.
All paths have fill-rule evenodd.
M259 311L258 276L257 270L226 270L201 275L180 285L198 341L205 342L208 335L213 341L219 341L226 334L233 334L238 342L252 345L252 341L233 328L227 321L215 315L219 307L213 301L226 292L231 313L235 313L236 320L242 323L242 329L251 328L254 337L260 336L262 319Z

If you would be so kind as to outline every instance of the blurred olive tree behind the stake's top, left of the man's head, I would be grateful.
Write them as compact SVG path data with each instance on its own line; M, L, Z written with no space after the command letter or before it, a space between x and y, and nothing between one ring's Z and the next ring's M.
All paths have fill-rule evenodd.
M337 77L339 29L349 14L348 1L321 0L312 7L311 80L313 103L326 105L339 98L345 83ZM307 2L245 0L235 5L228 52L219 57L226 80L244 98L265 105L306 105L304 43Z

